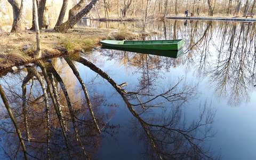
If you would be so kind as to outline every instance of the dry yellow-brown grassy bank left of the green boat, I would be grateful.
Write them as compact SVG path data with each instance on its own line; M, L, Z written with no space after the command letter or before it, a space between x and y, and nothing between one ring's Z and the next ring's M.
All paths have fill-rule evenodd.
M95 28L76 28L65 34L42 30L42 58L60 55L65 49L69 49L70 52L76 49L89 51L98 46L100 39L106 39L109 32L109 29ZM16 34L0 34L0 70L35 60L33 58L36 50L35 37L35 33L29 30Z

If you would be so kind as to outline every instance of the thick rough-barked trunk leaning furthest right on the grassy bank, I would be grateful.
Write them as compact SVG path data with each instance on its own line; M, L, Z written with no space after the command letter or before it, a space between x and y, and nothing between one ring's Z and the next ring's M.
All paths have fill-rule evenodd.
M83 1L83 0L81 0ZM83 18L84 15L88 14L95 3L97 3L98 0L92 0L84 9L82 9L79 13L74 15L73 17L69 16L68 21L62 23L60 27L55 28L57 31L63 33L67 31L68 29L72 28L76 25L76 23Z

